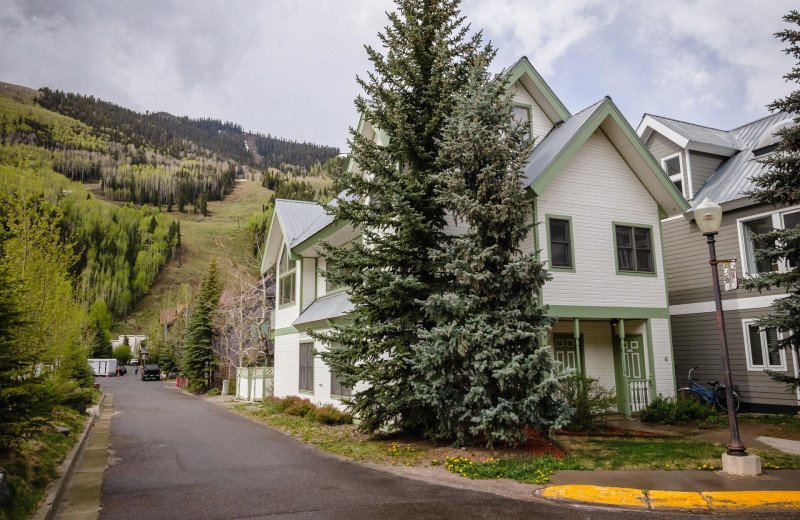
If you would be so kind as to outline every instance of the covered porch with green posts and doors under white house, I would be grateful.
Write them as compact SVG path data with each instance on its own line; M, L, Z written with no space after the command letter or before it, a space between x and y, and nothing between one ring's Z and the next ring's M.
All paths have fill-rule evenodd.
M669 338L665 339L669 344ZM664 379L668 372L673 379L671 352L661 355L656 365L651 319L562 317L553 327L548 344L553 357L564 366L615 390L617 410L628 418L657 395L657 373ZM672 395L673 389L674 383L659 392Z

